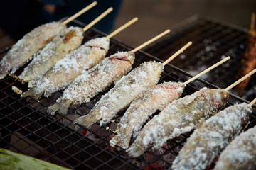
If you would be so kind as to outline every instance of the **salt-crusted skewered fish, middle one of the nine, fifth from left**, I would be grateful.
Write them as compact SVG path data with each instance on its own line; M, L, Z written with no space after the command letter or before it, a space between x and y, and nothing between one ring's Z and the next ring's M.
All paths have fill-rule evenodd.
M100 125L105 125L119 111L129 106L139 94L156 85L163 69L163 64L159 62L144 62L127 76L122 77L107 94L100 98L90 113L77 118L74 123L88 127L100 120Z

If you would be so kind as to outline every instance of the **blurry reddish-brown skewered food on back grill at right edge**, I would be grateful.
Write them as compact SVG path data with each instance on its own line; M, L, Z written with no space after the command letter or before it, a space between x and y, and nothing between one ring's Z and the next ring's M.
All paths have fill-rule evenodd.
M245 47L245 53L241 59L241 67L238 70L238 78L243 77L249 73L252 69L256 68L256 31L254 28L255 25L255 13L252 13L252 23L249 30L247 45ZM242 83L238 84L235 87L235 90L238 91L238 94L242 96L244 94L244 89L249 83L251 77L248 77Z

